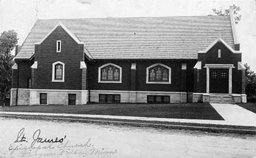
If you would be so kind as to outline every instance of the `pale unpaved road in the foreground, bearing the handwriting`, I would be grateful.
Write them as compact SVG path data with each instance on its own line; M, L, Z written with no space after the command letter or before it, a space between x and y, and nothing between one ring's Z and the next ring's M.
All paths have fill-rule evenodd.
M254 136L79 122L0 121L0 155L4 158L255 156Z

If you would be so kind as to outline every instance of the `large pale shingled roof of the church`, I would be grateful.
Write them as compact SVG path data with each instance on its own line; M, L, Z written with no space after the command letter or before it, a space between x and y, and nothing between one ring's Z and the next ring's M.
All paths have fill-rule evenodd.
M219 36L234 48L229 16L47 19L36 21L16 58L31 58L34 44L60 22L94 59L196 59Z

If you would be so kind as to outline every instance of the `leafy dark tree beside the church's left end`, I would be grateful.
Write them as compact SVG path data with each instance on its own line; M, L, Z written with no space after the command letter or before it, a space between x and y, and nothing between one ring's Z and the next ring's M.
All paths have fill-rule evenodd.
M14 64L14 56L11 51L17 44L17 33L14 30L4 31L0 36L0 104L4 106L4 100L10 96L11 67Z

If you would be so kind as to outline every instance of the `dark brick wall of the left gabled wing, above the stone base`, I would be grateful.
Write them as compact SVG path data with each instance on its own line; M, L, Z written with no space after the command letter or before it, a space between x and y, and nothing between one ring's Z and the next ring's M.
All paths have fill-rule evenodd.
M61 52L56 52L56 40L61 40ZM62 27L57 27L40 45L36 45L35 61L38 62L37 84L33 89L82 90L84 46L77 44ZM53 63L65 63L65 82L52 81Z

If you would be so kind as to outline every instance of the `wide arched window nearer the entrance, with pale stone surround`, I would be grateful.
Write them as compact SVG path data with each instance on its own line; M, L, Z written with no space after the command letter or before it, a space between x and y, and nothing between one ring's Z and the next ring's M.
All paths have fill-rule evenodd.
M148 67L147 84L171 84L171 68L161 63Z

